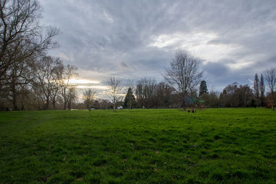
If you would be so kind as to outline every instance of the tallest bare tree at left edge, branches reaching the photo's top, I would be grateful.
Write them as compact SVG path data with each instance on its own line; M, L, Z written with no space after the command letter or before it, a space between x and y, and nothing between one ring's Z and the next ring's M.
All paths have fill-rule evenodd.
M41 27L40 12L37 0L0 1L0 96L11 94L14 110L19 89L32 81L34 58L57 44L59 30Z

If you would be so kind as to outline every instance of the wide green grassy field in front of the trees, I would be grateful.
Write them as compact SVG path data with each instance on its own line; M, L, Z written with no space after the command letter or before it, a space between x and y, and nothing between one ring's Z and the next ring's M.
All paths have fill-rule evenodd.
M276 183L266 109L0 112L0 183Z

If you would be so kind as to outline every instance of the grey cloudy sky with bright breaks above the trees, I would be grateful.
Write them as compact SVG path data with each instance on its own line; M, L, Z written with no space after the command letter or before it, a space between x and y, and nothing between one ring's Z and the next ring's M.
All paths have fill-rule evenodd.
M215 89L252 84L276 65L276 1L40 0L43 25L61 30L51 55L79 68L82 83L107 76L162 81L176 50L201 59ZM211 88L211 86L209 86Z

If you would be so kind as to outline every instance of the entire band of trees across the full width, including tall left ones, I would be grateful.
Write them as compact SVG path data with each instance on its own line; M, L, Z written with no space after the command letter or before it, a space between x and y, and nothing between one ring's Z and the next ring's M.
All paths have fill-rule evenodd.
M93 88L77 89L70 79L77 68L51 57L57 28L39 23L37 0L0 0L0 110L56 110L113 108L275 108L276 69L266 69L254 86L232 83L222 92L208 90L200 60L178 51L164 71L164 81L142 78L136 82L110 76L106 96L96 99ZM267 92L266 92L267 90Z

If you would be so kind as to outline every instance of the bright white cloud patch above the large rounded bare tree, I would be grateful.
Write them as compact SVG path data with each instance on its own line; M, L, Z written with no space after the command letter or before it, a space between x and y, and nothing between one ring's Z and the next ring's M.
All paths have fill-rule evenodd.
M235 44L210 44L210 41L217 38L217 34L206 32L160 34L152 36L152 41L148 44L148 47L188 50L200 59L204 59L204 63L216 62L231 57L235 50L242 48L242 46Z

